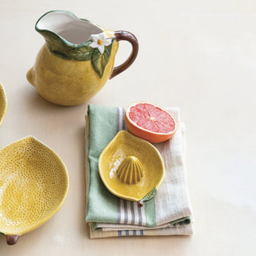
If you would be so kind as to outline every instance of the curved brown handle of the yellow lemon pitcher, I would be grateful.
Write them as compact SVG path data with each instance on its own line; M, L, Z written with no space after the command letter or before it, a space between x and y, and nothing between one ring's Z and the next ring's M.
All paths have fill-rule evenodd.
M122 65L119 65L113 69L110 79L112 79L114 76L118 75L119 73L122 73L122 71L125 71L125 69L129 68L131 64L134 62L134 60L136 59L138 50L139 50L139 43L136 36L134 36L134 34L128 31L119 30L119 31L115 31L114 36L116 37L116 42L123 41L123 40L130 42L132 46L132 52L129 58L126 59L126 61L122 63Z

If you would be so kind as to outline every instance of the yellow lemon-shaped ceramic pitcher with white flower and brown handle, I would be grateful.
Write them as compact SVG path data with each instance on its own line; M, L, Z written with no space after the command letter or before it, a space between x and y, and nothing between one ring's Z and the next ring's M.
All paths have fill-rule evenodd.
M127 69L138 53L132 33L105 30L65 10L45 13L36 22L36 31L46 42L28 70L27 80L43 98L58 105L88 101L108 79ZM121 40L131 43L132 52L113 68Z

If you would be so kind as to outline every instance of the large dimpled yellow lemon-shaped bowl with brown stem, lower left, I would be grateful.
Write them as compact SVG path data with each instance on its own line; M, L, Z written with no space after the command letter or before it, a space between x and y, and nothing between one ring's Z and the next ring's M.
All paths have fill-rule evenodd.
M69 177L56 153L34 137L0 151L0 232L8 244L38 228L68 195Z

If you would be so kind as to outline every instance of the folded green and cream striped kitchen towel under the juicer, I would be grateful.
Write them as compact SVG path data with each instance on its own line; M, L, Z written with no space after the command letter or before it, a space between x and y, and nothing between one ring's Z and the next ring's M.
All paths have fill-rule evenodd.
M125 108L88 105L86 116L86 221L90 237L192 234L191 203L185 165L185 125L178 108L167 108L177 119L171 140L154 144L165 164L165 179L154 199L142 208L114 196L99 177L99 155L120 130Z

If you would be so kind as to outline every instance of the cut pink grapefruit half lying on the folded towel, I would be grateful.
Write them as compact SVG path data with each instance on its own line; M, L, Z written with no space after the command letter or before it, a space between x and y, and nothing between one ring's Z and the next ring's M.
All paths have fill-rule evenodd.
M163 108L148 102L136 102L125 111L125 125L131 134L159 143L169 140L177 131L174 116Z

